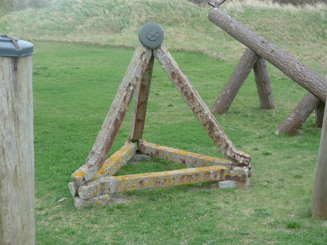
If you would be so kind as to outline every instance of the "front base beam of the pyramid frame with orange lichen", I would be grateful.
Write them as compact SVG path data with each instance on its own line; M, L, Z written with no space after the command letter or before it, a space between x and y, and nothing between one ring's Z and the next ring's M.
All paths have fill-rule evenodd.
M173 185L194 184L219 180L245 181L248 170L245 167L209 166L187 168L157 173L105 177L80 186L78 194L87 200L101 194L115 193L146 188L160 188Z

